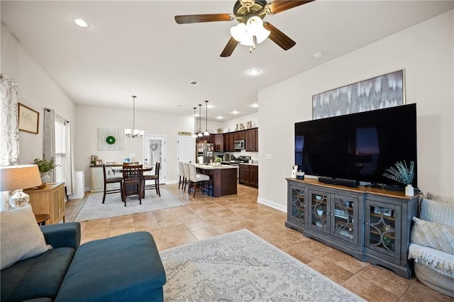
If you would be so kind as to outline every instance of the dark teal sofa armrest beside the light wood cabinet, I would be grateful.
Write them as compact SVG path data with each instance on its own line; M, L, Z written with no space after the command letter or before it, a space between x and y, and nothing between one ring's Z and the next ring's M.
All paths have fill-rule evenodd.
M77 250L80 245L80 223L58 223L40 227L45 242L56 247L72 247Z

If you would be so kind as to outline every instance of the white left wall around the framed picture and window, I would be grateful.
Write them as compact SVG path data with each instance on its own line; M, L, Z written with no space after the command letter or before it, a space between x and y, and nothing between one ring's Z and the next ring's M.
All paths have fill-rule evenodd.
M19 131L19 161L21 164L31 164L35 158L43 157L44 108L55 109L55 113L70 121L74 133L77 126L75 106L3 24L1 73L18 81L19 102L40 113L38 134Z

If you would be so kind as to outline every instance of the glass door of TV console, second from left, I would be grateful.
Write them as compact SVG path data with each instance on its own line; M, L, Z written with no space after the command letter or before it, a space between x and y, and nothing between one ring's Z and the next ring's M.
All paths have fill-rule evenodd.
M309 215L309 228L316 228L322 232L329 233L329 210L328 194L321 191L309 190L309 204L311 211Z

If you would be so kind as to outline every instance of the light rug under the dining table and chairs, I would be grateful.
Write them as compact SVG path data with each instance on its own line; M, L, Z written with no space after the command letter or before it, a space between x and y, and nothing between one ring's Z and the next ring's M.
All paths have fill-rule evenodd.
M99 218L108 218L122 216L133 213L161 210L162 208L174 208L176 206L186 206L186 203L180 201L175 195L166 189L160 187L161 196L156 191L145 191L145 198L142 198L142 204L139 204L136 196L126 199L126 206L121 201L120 193L107 194L106 201L102 203L103 193L90 193L84 206L77 213L74 221L87 221Z

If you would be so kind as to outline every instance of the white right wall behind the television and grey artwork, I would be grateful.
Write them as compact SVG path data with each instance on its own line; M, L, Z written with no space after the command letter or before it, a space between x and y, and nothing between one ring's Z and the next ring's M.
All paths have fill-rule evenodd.
M453 44L449 11L260 91L259 202L286 210L294 123L311 120L313 94L402 68L417 108L419 188L454 196Z

